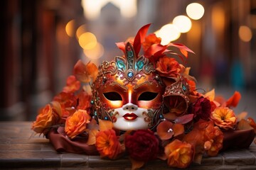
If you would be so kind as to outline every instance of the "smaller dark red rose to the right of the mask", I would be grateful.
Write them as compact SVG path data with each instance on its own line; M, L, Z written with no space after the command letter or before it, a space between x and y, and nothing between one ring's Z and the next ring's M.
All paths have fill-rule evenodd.
M208 120L210 118L210 101L207 98L200 97L193 105L194 118L199 120Z

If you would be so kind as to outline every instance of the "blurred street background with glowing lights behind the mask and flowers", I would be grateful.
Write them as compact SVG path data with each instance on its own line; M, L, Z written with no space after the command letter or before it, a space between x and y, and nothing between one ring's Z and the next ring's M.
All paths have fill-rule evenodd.
M193 50L186 67L198 88L256 119L256 0L4 0L0 7L0 120L35 120L79 60L100 64L115 42L153 23L163 43Z

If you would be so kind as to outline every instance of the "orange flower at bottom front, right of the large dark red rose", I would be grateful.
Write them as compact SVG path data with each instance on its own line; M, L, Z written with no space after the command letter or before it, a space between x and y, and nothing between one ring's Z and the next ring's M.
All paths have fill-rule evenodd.
M193 148L189 143L174 140L166 145L164 153L171 167L186 168L193 160Z

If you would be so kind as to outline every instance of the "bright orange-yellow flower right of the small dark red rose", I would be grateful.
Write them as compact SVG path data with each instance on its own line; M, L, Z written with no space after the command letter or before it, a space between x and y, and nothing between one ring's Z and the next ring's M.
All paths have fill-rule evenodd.
M237 123L237 118L235 113L230 108L219 107L210 114L210 119L214 121L215 125L218 125L220 128L228 130L233 128Z

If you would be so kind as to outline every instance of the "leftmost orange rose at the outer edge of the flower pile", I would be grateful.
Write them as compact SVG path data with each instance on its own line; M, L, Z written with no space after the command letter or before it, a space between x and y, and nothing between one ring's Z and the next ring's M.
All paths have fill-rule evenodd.
M50 127L58 123L58 120L60 120L60 115L61 113L57 112L53 106L50 104L46 105L39 111L36 121L33 122L32 130L46 135L46 133L50 130Z

